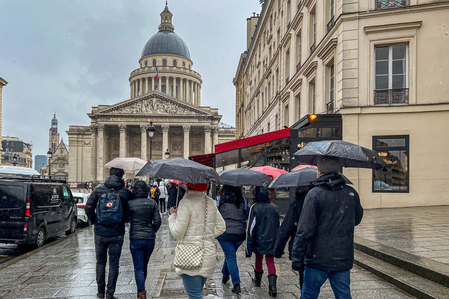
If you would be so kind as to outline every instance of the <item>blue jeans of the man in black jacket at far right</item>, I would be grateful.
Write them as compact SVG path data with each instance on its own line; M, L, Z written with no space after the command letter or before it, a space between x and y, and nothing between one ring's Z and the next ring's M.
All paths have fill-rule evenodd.
M317 269L304 269L304 284L301 289L301 299L317 299L321 286L329 279L334 291L335 299L352 299L349 289L349 270L342 272L321 271Z

